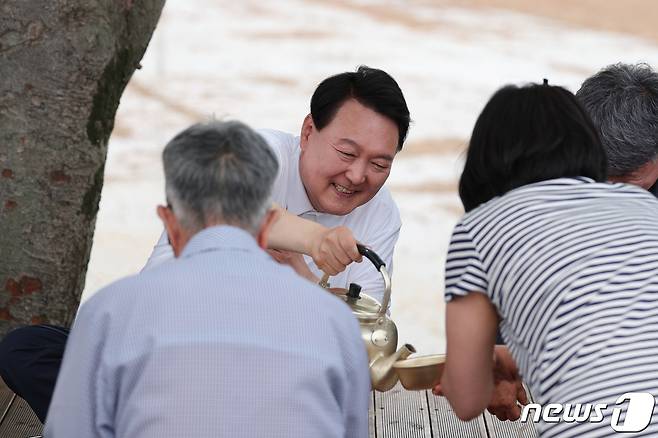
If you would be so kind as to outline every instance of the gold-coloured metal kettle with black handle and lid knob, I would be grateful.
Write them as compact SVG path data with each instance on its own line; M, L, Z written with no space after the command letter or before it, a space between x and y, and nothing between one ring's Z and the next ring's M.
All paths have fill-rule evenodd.
M386 314L391 300L391 277L386 271L386 264L373 250L360 244L357 244L357 248L362 256L375 265L375 269L384 278L384 301L379 303L375 298L361 293L361 286L356 283L351 283L345 294L338 295L350 306L352 313L359 321L361 338L368 352L372 388L383 392L393 388L398 381L393 364L398 360L406 359L416 350L410 344L404 344L396 350L398 329ZM320 286L328 288L328 278L325 275Z

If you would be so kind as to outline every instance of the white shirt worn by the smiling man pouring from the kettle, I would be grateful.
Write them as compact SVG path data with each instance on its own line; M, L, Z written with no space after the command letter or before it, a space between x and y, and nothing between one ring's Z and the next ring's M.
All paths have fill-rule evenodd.
M367 203L355 208L345 216L319 213L313 209L306 195L306 189L299 175L299 137L270 129L258 131L277 156L279 174L274 182L272 200L290 213L322 224L326 227L340 225L349 228L354 237L372 248L386 263L388 273L393 273L393 249L400 235L400 212L386 187ZM153 249L144 269L171 259L173 252L163 233ZM304 256L306 263L315 275L322 277L313 260ZM332 287L349 288L350 283L357 283L363 293L382 302L384 281L370 261L352 263L343 272L329 279Z

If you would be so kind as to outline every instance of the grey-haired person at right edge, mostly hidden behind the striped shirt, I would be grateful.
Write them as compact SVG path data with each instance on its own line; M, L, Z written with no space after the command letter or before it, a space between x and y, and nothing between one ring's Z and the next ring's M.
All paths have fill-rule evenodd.
M608 180L658 196L658 73L645 63L617 63L587 78L576 92L597 128L608 158ZM518 368L504 345L496 346L496 389L488 410L516 420L527 403ZM440 387L436 388L440 394Z

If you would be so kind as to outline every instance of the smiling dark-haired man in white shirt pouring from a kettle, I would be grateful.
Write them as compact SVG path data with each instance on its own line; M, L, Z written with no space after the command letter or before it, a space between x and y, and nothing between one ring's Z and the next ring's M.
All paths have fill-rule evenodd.
M361 66L322 81L311 97L310 113L299 136L275 130L259 133L274 151L279 173L272 198L289 213L325 227L343 226L373 249L392 272L400 234L400 213L383 187L409 130L409 109L397 82L386 72ZM276 226L276 224L275 224ZM294 230L276 233L294 237ZM281 248L286 242L270 247ZM318 282L317 257L280 250L270 254L303 277ZM171 258L166 236L160 238L146 268ZM330 279L332 287L362 286L382 301L384 283L370 263L352 263L345 253Z

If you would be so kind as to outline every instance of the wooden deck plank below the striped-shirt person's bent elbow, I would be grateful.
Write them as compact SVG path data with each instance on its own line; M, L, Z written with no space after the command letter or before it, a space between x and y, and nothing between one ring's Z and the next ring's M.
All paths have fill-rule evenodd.
M487 438L484 418L480 415L471 421L462 421L452 411L448 400L426 391L434 438Z

